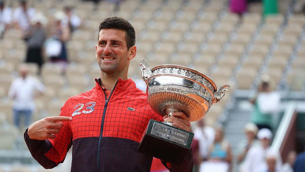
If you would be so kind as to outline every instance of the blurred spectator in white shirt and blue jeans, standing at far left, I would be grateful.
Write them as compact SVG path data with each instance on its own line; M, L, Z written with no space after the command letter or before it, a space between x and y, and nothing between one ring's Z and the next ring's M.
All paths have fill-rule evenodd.
M14 124L20 127L20 117L24 117L24 127L28 127L31 122L32 113L35 108L35 91L43 93L45 86L35 77L28 76L26 64L20 65L20 77L13 80L9 89L9 98L14 100L13 114Z

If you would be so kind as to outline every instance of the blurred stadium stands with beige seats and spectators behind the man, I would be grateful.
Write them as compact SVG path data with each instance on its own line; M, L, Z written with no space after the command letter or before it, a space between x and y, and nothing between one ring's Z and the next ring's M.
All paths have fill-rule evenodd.
M192 122L193 171L290 172L304 158L303 0L0 0L1 172L70 171L71 152L39 166L23 133L95 86L98 26L113 15L135 28L128 76L143 91L142 58L230 85ZM151 171L166 170L154 159Z

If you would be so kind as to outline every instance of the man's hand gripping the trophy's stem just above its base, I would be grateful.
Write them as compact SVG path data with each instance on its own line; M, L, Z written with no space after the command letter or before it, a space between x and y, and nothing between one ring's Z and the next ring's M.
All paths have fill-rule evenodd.
M172 122L175 127L179 129L184 129L186 131L190 131L191 123L188 120L188 117L183 112L174 112L169 117L165 115L163 117L164 121Z

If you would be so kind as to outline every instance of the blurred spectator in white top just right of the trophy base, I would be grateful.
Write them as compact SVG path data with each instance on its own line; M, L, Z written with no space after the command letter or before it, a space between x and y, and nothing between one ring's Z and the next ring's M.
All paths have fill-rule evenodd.
M204 118L197 121L197 126L194 129L194 139L199 141L199 162L205 161L208 158L209 148L214 142L215 129L206 126Z

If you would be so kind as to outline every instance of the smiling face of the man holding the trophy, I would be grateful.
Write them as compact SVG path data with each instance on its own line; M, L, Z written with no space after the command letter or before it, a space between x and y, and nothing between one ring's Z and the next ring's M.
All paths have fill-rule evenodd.
M135 46L127 49L125 31L102 29L96 48L96 60L102 72L115 74L128 71L129 62L134 56Z

